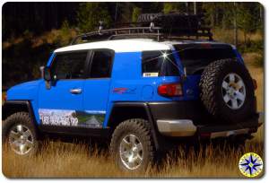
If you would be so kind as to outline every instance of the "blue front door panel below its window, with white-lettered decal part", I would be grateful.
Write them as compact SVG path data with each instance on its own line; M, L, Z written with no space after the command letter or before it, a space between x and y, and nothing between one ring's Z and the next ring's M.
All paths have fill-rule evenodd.
M76 111L82 111L82 93L73 94L73 89L83 90L83 80L60 80L48 90L43 81L39 88L39 120L46 125L75 126Z

